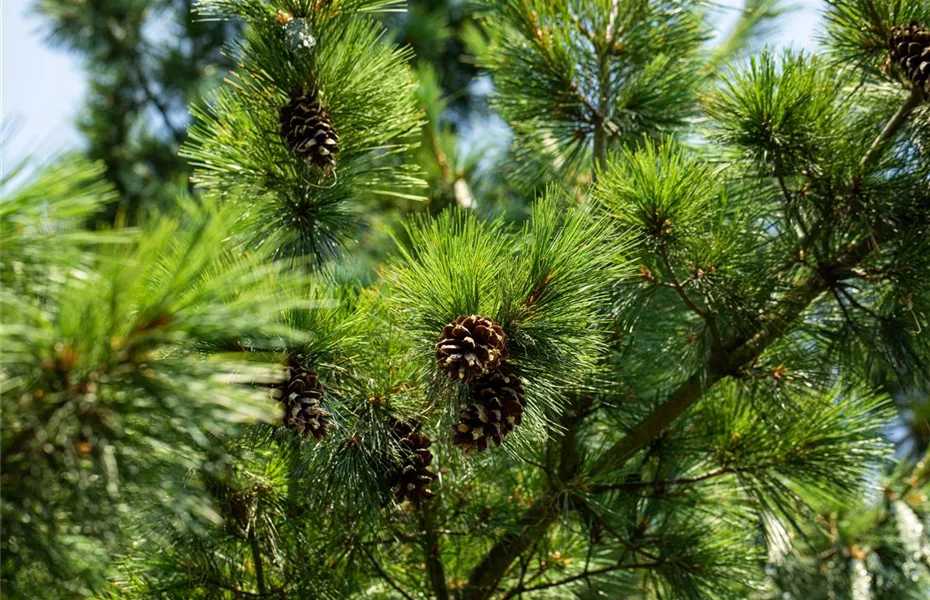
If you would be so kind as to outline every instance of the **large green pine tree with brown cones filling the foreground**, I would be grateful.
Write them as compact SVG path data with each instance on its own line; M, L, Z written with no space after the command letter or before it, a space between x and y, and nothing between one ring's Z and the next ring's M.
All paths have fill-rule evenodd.
M482 2L516 206L397 225L463 180L403 4L198 4L237 66L138 230L4 193L4 593L926 597L926 3L740 61L776 3Z

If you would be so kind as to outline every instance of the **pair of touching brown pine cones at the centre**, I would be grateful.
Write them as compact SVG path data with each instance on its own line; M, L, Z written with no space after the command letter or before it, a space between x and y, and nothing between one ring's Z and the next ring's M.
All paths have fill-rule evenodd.
M523 421L526 393L505 361L507 336L490 317L463 315L445 326L436 361L446 374L468 385L472 403L459 412L452 442L465 452L500 446Z

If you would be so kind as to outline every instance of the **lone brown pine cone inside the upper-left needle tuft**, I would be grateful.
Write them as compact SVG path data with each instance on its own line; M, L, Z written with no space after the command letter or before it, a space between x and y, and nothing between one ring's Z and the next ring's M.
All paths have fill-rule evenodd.
M336 168L339 137L314 87L304 86L278 110L281 137L295 155L324 173Z

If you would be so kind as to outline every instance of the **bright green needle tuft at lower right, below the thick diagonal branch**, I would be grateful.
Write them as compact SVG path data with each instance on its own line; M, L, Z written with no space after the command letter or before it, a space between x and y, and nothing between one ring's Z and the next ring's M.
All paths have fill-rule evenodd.
M891 417L887 398L842 385L823 392L794 385L785 392L791 401L780 411L766 407L764 395L735 386L700 406L693 418L697 436L713 440L702 449L708 462L734 474L764 508L789 515L799 508L798 494L855 498L874 475L871 461L889 450L882 440ZM772 429L777 439L766 439Z

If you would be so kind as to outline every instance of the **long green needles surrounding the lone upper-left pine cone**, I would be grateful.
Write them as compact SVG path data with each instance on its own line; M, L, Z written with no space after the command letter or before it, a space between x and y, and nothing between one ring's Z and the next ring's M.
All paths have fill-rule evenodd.
M288 45L273 5L202 5L211 14L241 13L251 27L236 48L240 71L210 107L195 110L183 155L197 168L195 182L238 207L248 247L322 261L352 233L350 203L360 195L418 185L410 167L390 159L408 148L419 115L409 52L385 44L382 26L348 7L330 18L322 8L310 10L318 4L305 4L278 8L306 19L317 40L312 52ZM359 64L358 56L366 61ZM292 155L279 133L278 111L302 86L319 90L339 136L331 178Z

